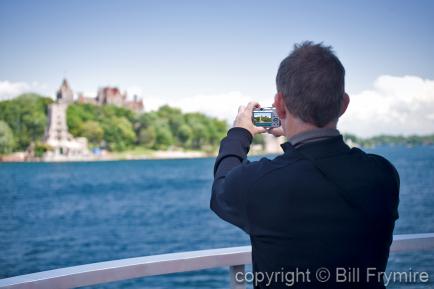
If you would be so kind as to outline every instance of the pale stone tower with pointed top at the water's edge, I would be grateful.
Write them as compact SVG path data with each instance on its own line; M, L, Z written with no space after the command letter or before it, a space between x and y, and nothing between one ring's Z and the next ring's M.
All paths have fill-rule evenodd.
M44 160L80 159L89 155L87 139L74 138L68 132L66 110L73 101L74 93L65 79L57 91L56 101L48 107L48 128L44 143L51 149L45 153Z

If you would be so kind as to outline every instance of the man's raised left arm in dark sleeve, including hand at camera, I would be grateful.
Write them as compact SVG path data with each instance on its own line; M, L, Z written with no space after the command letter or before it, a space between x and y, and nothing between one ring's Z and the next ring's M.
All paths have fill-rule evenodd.
M246 185L248 179L242 164L247 162L247 153L253 135L262 132L251 121L252 110L257 103L240 107L234 128L220 143L220 150L214 164L214 182L211 195L211 209L223 220L248 233L246 215Z

